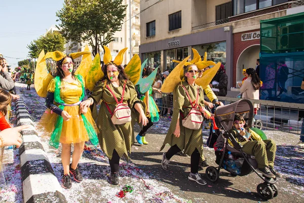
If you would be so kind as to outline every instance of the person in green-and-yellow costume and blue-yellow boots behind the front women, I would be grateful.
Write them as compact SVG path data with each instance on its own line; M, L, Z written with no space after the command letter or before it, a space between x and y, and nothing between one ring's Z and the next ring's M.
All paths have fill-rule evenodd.
M148 66L144 69L142 77L146 78L152 72L153 72L153 69L151 69L151 67ZM136 140L139 145L142 145L142 144L147 145L149 143L145 140L145 134L146 134L147 130L153 126L154 122L158 122L160 120L160 115L159 115L160 110L157 107L153 97L151 96L151 95L153 95L152 87L150 87L149 90L146 91L145 93L141 93L139 91L139 85L137 85L136 87L138 88L137 93L139 94L140 100L142 100L145 104L145 107L146 107L145 112L146 112L146 116L148 118L148 124L146 126L142 127L142 130L140 130L140 132L136 136Z

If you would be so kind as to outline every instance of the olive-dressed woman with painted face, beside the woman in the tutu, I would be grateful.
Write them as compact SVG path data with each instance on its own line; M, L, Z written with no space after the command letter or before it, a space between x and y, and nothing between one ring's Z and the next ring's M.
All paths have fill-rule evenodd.
M123 67L111 61L105 64L103 73L104 78L94 88L89 98L82 102L81 107L96 105L99 101L102 101L96 123L100 132L98 139L102 151L109 158L111 184L117 185L119 184L119 161L122 156L129 158L128 153L131 153L134 130L131 122L116 125L112 123L111 114L106 107L107 105L111 112L117 107L117 101L112 93L120 101L125 86L123 103L127 104L130 109L134 108L138 111L139 122L143 126L147 124L148 119L143 111L142 101L137 98L135 87L128 80Z

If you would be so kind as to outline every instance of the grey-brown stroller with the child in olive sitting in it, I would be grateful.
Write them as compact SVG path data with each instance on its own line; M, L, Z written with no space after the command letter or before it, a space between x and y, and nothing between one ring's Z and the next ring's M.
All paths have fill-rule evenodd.
M276 144L272 140L262 140L259 134L250 129L253 116L253 105L248 99L217 107L215 120L219 129L212 136L218 138L214 144L215 138L211 138L209 145L215 150L218 167L207 167L206 178L217 181L221 168L233 176L246 176L254 172L264 181L257 186L258 194L264 199L271 199L278 195L276 178L282 176L273 166Z

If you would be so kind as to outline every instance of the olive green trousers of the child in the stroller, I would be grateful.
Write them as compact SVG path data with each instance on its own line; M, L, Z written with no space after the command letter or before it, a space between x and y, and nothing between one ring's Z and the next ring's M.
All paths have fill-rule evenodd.
M258 168L274 167L277 145L273 140L241 142L243 152L255 156Z

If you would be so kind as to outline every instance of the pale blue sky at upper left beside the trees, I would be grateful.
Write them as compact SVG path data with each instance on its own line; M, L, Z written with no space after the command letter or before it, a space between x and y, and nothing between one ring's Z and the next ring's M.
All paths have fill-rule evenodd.
M43 35L51 25L58 24L56 11L62 8L64 0L0 2L0 53L16 67L18 61L28 58L27 44Z

